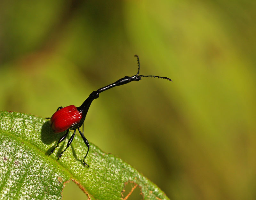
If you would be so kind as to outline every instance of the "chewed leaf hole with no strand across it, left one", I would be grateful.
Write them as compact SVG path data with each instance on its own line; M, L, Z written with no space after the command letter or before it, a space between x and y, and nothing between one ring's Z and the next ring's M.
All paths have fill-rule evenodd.
M62 200L70 199L87 200L89 198L74 181L69 181L65 183L65 187L63 188Z

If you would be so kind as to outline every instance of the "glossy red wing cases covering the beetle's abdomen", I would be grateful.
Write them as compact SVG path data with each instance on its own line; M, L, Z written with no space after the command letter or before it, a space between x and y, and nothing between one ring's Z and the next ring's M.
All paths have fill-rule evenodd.
M60 133L69 129L72 125L80 122L82 113L76 106L70 105L56 111L51 117L51 127L54 133Z

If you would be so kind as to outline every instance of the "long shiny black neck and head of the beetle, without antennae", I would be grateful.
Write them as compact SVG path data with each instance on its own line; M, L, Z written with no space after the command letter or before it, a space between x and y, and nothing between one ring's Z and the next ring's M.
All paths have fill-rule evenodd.
M141 77L138 76L138 75L134 75L134 76L125 76L124 78L121 78L119 80L117 80L116 82L112 83L112 84L109 84L103 88L100 88L100 89L97 89L96 91L93 91L89 97L84 101L84 103L77 107L77 110L79 112L82 112L82 115L83 115L83 119L81 120L82 124L84 122L84 119L87 115L87 112L90 108L90 105L92 103L92 101L94 99L97 99L99 98L99 94L105 90L108 90L110 88L113 88L113 87L116 87L116 86L119 86L119 85L124 85L126 83L130 83L131 81L140 81L141 80Z

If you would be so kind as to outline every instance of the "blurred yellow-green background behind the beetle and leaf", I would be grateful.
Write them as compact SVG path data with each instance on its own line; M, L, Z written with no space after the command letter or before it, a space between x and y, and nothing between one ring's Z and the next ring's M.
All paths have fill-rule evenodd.
M256 198L255 1L1 1L0 110L100 94L86 138L172 200ZM78 135L77 135L78 136ZM74 192L78 190L78 192ZM63 199L85 199L73 183ZM137 196L139 199L139 196Z

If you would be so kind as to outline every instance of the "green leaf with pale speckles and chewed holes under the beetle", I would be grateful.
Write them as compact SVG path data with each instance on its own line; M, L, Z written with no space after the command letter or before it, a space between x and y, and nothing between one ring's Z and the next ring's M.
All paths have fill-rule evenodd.
M48 156L64 133L54 134L49 120L30 114L0 112L0 199L61 199L73 180L89 199L122 199L125 184L138 184L144 199L169 199L131 165L92 143L85 167L86 146L78 135L60 160L66 141Z

